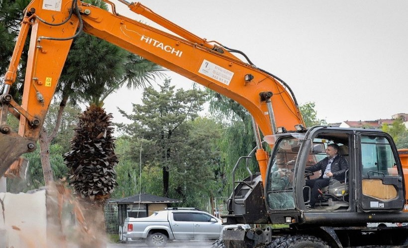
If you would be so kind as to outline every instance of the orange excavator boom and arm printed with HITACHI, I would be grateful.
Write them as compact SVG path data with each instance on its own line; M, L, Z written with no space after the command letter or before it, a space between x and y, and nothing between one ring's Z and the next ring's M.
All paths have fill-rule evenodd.
M242 62L219 43L206 42L140 3L122 0L134 12L181 37L120 16L115 13L114 5L106 2L113 6L112 12L71 0L32 0L28 5L1 95L0 175L18 156L35 149L73 37L82 30L237 101L251 113L264 135L273 134L273 125L293 130L294 125L304 124L294 97L270 74ZM15 80L29 26L31 40L19 107L12 104L8 89ZM273 118L268 102L272 103ZM18 134L6 124L8 109L15 109L13 112L20 116ZM6 149L11 145L15 147ZM258 148L262 153L262 148ZM266 170L265 152L260 157L265 160L262 173Z

